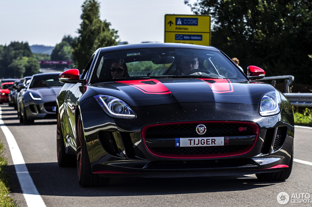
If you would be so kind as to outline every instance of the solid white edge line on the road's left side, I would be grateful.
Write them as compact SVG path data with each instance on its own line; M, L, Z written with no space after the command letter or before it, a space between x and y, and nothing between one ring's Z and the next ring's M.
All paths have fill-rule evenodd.
M25 197L27 206L46 207L34 182L32 181L32 178L28 172L22 153L18 148L17 142L11 131L4 124L1 114L2 109L0 107L0 127L3 131L3 134L7 138L7 144L9 145L13 164L17 173L18 180L21 184L21 189L23 191L23 195Z

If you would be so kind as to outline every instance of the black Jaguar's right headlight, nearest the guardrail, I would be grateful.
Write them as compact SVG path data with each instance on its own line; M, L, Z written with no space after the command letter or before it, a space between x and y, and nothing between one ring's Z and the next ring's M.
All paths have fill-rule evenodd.
M280 93L271 91L262 96L259 113L261 116L271 116L280 113L281 108Z

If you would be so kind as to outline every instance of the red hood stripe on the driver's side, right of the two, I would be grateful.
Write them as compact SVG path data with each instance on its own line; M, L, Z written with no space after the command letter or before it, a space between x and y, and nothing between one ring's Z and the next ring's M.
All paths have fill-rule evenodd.
M231 93L234 91L232 82L229 79L199 79L208 83L213 93Z

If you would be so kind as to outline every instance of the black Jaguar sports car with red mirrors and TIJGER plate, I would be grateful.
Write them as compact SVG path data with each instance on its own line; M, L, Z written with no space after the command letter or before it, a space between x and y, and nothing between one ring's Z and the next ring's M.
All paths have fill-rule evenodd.
M198 67L184 71L186 65ZM111 177L285 180L294 153L290 102L257 81L265 76L261 68L247 71L210 46L99 48L82 74L60 74L66 84L56 100L58 165L76 160L84 187Z

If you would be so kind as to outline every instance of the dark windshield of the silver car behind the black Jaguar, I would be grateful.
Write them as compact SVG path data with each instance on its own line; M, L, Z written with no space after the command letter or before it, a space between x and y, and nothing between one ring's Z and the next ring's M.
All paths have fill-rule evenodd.
M47 75L37 75L33 76L29 88L40 88L40 87L52 87L52 86L62 86L58 79L59 74L47 74Z

